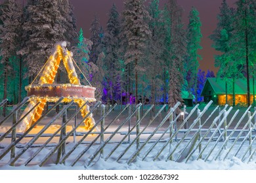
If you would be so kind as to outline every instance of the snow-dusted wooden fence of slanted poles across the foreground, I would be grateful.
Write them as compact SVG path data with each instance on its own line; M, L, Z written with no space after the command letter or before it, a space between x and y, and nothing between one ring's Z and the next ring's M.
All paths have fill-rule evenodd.
M0 129L5 129L0 133L0 167L3 165L41 167L51 161L67 166L75 166L78 163L89 167L98 159L128 165L136 159L140 161L165 159L165 161L187 163L195 159L214 161L236 156L247 163L255 161L253 155L256 151L256 110L251 114L251 107L238 117L240 110L231 114L234 109L228 105L222 109L217 106L210 111L209 107L212 104L210 101L202 111L199 105L196 105L189 113L184 108L184 112L177 115L175 110L180 105L177 103L165 116L161 114L166 105L152 116L150 112L154 105L142 114L141 104L133 107L133 110L131 105L126 105L121 110L115 109L117 105L114 105L106 111L105 105L97 102L87 114L87 116L91 113L96 114L100 110L100 117L96 120L95 126L89 131L79 132L79 127L81 128L87 116L77 123L77 114L87 103L72 112L69 117L68 109L72 107L74 101L64 105L51 118L47 117L61 103L63 100L61 97L26 132L18 133L16 131L18 124L39 105L37 103L25 116L19 118L19 111L29 99L26 97L12 108L5 118L0 118ZM2 101L0 107L5 103L7 100ZM112 115L114 111L119 112ZM192 118L193 115L196 117ZM121 116L126 117L121 118ZM59 118L61 124L56 130L51 134L45 133ZM43 120L49 122L33 134L33 129ZM72 125L69 131L67 131L68 125ZM29 155L26 153L28 151L30 151Z

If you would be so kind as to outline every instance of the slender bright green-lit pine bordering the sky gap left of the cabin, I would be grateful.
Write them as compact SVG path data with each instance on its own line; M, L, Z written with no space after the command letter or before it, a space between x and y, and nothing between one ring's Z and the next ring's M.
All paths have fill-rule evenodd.
M187 35L186 39L188 40L187 44L187 54L188 57L186 58L186 79L188 82L188 92L190 92L192 89L193 91L196 91L196 82L197 82L197 76L198 73L198 59L201 59L201 56L198 54L198 50L202 49L200 46L202 33L201 33L201 22L199 18L199 12L196 10L195 7L192 7L192 10L190 10L190 14L188 16L189 23L187 28ZM197 97L195 95L195 97ZM197 100L197 98L196 98Z

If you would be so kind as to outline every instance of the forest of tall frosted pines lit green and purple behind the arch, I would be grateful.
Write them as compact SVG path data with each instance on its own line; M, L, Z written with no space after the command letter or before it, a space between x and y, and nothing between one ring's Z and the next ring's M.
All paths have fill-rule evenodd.
M16 104L26 96L24 87L32 83L58 41L68 42L85 75L77 70L82 84L89 81L96 88L96 99L104 103L168 103L173 107L177 101L182 103L182 91L202 100L205 78L214 74L207 71L205 75L199 69L200 13L192 7L186 26L177 0L168 0L163 8L160 0L148 1L125 0L122 12L113 5L106 26L95 16L89 38L76 26L68 0L1 3L0 101L7 98ZM254 81L255 4L238 0L234 9L223 0L220 5L218 24L210 36L213 47L221 52L215 57L217 78ZM55 82L68 82L65 72L60 67Z

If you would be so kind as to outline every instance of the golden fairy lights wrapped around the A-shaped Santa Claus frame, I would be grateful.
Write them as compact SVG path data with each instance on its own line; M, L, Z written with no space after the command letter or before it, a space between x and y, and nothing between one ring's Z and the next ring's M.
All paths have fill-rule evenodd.
M45 65L43 65L43 68L41 69L41 71L39 71L39 73L35 77L36 79L39 76L39 74L42 72L41 77L39 78L39 84L33 84L33 82L35 81L34 79L32 84L26 86L25 88L26 91L29 92L32 89L35 89L35 90L47 89L47 91L54 91L53 90L54 88L79 87L79 88L90 88L91 90L93 90L93 93L94 93L96 88L93 88L90 83L89 83L90 86L81 85L80 80L77 77L77 73L75 72L75 67L73 65L75 61L72 58L72 56L73 56L72 52L66 49L66 42L57 44L55 46L54 53L49 57ZM58 67L60 65L61 60L63 61L64 67L66 68L66 71L68 73L68 78L70 80L69 84L53 84L54 78L58 71ZM77 66L76 63L75 65ZM79 69L78 66L77 68ZM79 69L79 71L81 71L81 69ZM22 116L24 116L26 114L26 111L28 112L28 110L34 107L37 103L39 103L39 105L37 105L37 107L33 110L33 112L31 112L31 114L26 116L26 118L23 120L23 123L25 124L24 126L26 126L26 129L23 129L23 131L26 131L31 125L33 125L37 120L39 120L47 102L56 103L56 101L58 101L59 99L60 97L58 96L49 97L47 95L30 97L30 104L24 110L24 114L22 114ZM62 99L61 102L69 103L72 100L74 100L74 102L77 103L79 107L83 106L86 101L89 101L89 103L96 101L94 97L77 97L77 96L68 95L68 96L64 96L64 99ZM85 105L85 107L83 107L83 109L81 110L81 116L83 116L84 118L88 114L88 112L89 112L89 106ZM91 129L93 125L95 125L95 121L93 119L92 114L88 116L88 118L84 121L84 124L85 124L85 129Z

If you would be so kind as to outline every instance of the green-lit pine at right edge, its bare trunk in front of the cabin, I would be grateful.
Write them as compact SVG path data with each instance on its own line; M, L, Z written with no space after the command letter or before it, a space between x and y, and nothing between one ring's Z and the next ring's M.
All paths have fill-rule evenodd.
M253 54L255 54L255 9L253 9L253 1L238 0L236 2L237 9L234 16L234 31L232 31L232 39L230 45L232 50L230 54L234 56L236 61L241 61L245 67L245 78L247 80L247 105L250 105L250 71L249 67L253 63ZM254 50L254 51L253 51Z

